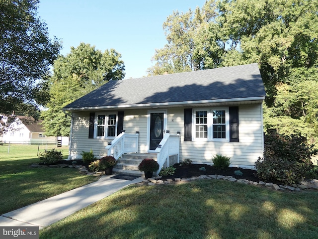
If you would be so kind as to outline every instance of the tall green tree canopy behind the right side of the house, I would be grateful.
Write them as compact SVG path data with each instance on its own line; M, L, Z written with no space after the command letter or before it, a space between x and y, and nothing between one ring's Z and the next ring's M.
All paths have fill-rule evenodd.
M318 137L318 0L207 0L163 29L149 75L256 62L265 127Z

